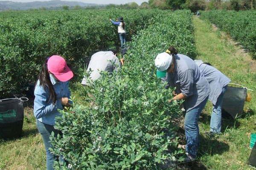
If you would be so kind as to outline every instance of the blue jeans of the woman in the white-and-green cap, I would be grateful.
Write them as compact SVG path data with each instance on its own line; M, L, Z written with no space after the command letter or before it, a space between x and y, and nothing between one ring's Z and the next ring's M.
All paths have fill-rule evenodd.
M198 127L198 119L201 111L207 103L207 99L204 99L197 107L191 109L186 112L184 128L186 135L186 152L189 153L193 158L196 157L199 145L199 127Z

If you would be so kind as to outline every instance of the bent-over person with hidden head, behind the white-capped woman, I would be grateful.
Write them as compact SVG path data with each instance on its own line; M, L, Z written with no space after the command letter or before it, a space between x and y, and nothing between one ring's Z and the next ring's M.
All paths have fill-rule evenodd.
M212 102L212 116L210 122L210 133L221 133L221 105L227 85L231 81L216 68L204 63L202 60L195 60L210 85L209 100Z

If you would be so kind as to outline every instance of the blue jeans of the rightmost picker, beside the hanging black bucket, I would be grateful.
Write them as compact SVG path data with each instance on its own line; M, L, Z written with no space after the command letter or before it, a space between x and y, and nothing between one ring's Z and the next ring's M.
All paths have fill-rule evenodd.
M222 88L221 94L218 96L217 102L213 105L210 132L221 133L221 105L223 102L223 96L227 90L227 86Z

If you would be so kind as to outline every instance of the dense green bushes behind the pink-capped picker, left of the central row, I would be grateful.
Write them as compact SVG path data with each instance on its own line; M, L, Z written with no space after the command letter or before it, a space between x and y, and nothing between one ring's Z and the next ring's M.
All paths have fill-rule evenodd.
M109 18L124 17L130 40L158 13L114 9L1 12L1 97L20 94L28 83L34 83L44 59L53 54L65 57L77 73L94 50L118 47L117 28Z

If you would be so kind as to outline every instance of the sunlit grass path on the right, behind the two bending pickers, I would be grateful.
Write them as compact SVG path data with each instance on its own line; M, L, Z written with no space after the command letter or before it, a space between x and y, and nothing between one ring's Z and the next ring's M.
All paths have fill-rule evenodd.
M197 59L210 62L233 83L256 90L255 63L244 54L227 34L212 27L212 24L198 17L193 18ZM222 134L215 138L204 135L209 130L211 104L208 103L200 118L202 134L199 150L200 161L211 170L250 170L247 165L251 150L250 133L256 133L256 92L253 100L244 107L244 116L239 119L223 119Z

